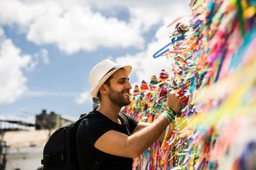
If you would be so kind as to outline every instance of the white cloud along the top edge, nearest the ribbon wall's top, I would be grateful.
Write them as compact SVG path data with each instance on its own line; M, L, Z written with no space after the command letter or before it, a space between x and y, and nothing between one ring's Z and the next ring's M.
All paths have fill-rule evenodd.
M178 16L188 15L190 13L189 2L189 0L141 0L136 2L112 0L105 3L105 0L88 0L90 6L95 6L102 11L127 8L131 17L130 24L145 31L156 23L172 21Z

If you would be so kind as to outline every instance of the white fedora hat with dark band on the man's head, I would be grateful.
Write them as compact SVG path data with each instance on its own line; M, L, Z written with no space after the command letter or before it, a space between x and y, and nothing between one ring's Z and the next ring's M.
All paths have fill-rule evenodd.
M111 60L103 60L102 62L95 65L89 75L89 82L92 87L92 97L98 98L97 93L100 90L100 87L114 72L121 68L125 70L127 75L129 75L132 71L132 66L120 66L119 64L112 62Z

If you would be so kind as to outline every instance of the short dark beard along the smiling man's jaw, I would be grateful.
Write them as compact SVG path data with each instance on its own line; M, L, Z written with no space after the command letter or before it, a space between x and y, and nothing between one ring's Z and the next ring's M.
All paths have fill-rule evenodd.
M122 108L122 106L127 106L131 103L129 98L127 99L123 96L122 91L121 92L116 91L111 87L110 87L110 93L108 94L108 97L110 98L110 101L112 101L112 103L119 106L120 108Z

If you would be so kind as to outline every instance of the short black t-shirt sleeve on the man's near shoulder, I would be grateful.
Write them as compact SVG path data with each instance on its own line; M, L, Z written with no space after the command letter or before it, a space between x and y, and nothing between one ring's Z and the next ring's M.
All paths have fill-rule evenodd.
M82 135L87 144L94 146L95 142L105 134L105 132L112 130L112 126L104 120L96 118L85 119L82 121Z

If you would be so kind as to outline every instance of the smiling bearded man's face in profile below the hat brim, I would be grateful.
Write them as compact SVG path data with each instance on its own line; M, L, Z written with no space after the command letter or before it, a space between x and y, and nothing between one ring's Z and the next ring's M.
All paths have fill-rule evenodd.
M129 99L130 89L132 89L132 86L129 84L129 78L127 77L126 72L124 69L119 69L117 72L112 74L109 93L107 96L115 105L119 107L127 106L131 103Z

